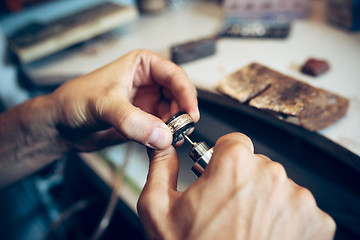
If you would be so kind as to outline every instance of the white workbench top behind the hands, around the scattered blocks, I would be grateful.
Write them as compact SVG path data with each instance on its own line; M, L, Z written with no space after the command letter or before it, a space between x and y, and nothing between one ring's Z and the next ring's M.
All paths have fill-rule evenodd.
M360 33L323 21L323 1L312 2L310 17L293 22L286 39L222 38L216 54L182 65L199 88L214 91L215 83L250 62L258 62L340 94L350 100L346 116L319 133L360 155ZM143 15L110 35L71 48L27 66L34 79L72 78L90 72L132 49L145 48L169 58L170 47L217 33L223 23L218 2L192 1L179 9ZM312 78L300 73L309 57L330 63L328 73Z

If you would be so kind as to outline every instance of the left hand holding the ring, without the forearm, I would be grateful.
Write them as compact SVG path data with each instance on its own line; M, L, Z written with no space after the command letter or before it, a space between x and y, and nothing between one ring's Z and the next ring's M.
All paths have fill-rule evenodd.
M164 149L172 141L165 120L179 110L199 119L196 90L185 72L144 50L64 84L53 99L57 129L82 151L128 139Z

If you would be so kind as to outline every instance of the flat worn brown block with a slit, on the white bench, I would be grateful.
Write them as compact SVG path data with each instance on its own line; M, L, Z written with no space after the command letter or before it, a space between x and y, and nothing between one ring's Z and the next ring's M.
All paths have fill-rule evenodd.
M241 103L316 131L342 118L349 100L258 63L221 79L217 90Z

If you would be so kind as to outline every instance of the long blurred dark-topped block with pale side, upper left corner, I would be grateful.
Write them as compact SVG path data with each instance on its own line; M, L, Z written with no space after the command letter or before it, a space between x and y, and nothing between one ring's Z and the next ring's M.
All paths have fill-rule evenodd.
M29 63L113 30L138 16L136 7L105 2L50 23L32 23L10 36L22 63Z

